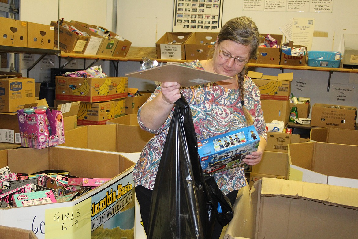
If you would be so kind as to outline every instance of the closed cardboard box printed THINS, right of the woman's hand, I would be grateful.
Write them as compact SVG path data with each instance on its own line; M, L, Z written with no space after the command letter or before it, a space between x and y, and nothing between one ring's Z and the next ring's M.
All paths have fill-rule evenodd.
M300 143L299 134L270 132L267 133L267 145L265 150L287 153L287 145L294 143Z

